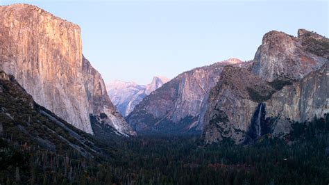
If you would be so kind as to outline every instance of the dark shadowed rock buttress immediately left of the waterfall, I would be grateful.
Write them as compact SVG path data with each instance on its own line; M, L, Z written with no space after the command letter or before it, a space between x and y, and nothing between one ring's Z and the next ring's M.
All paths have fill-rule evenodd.
M221 79L210 91L203 125L205 141L212 143L231 138L236 143L243 143L258 104L274 92L271 83L243 67L224 67Z

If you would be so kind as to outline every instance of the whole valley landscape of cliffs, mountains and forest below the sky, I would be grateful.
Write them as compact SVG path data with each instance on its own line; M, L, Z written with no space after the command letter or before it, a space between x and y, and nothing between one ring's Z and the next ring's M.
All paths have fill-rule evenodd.
M0 184L329 183L326 36L269 31L250 61L146 86L82 48L77 24L0 6Z

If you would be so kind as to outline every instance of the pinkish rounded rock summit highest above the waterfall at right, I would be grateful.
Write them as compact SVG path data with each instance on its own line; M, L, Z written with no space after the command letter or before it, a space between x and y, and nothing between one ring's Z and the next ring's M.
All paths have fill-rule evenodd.
M307 36L305 32L307 31L298 31L298 38L278 31L266 33L262 45L255 54L252 72L266 81L275 81L276 79L300 80L306 74L319 70L327 59L311 53L305 47L303 43L305 39L315 38L311 34ZM312 33L312 35L317 34Z

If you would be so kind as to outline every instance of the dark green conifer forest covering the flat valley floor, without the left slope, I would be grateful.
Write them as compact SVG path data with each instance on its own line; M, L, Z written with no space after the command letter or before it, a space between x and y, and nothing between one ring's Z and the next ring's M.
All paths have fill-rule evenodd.
M328 184L329 123L296 123L285 140L262 136L252 145L226 140L203 145L199 136L113 138L110 159L74 150L56 154L1 140L5 184Z

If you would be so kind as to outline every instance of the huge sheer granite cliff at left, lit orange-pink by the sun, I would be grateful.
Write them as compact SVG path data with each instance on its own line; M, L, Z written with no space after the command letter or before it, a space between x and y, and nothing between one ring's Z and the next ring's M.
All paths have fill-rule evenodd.
M76 24L26 4L1 6L0 22L0 69L12 74L37 104L90 134L90 115L106 113L109 124L129 134L101 75L82 55Z

